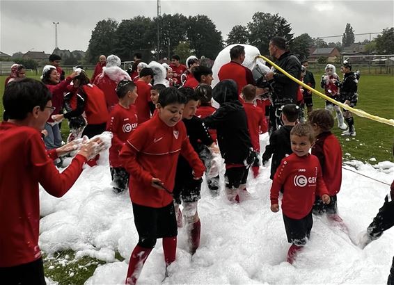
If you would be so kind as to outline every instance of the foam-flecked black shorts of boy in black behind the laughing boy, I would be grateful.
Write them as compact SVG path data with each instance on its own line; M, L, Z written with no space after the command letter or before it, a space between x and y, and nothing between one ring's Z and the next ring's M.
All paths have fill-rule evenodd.
M187 179L175 180L173 197L175 203L181 204L182 202L197 202L201 198L201 183L203 179Z

